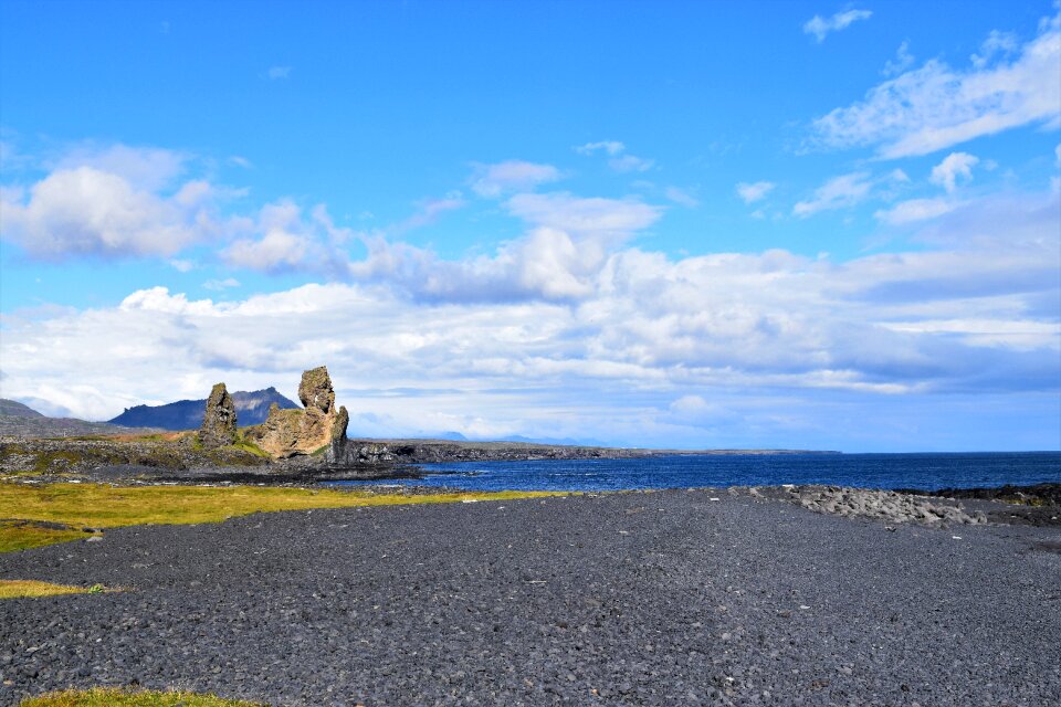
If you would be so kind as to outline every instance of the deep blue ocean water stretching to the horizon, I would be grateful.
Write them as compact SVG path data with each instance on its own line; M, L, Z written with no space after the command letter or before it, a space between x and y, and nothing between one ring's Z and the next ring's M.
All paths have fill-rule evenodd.
M777 484L935 490L1061 483L1061 452L704 454L632 460L453 462L424 464L421 468L427 473L424 478L395 483L468 490L617 490Z

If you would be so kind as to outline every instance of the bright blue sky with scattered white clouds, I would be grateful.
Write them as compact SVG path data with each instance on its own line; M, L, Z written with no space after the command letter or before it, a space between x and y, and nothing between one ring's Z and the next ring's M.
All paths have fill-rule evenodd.
M0 3L0 397L1061 449L1061 6Z

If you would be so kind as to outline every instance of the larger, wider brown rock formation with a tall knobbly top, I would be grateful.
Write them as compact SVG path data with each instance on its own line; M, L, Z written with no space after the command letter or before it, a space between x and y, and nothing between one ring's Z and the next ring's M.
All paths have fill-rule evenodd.
M324 366L302 374L298 400L305 410L281 410L275 403L261 425L250 428L246 436L274 457L329 452L346 439L349 415L335 407L335 390Z

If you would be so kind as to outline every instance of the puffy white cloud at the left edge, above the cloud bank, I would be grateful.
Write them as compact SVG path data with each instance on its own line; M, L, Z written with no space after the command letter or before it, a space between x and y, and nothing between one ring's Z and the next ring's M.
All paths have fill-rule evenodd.
M216 230L201 187L186 188L167 198L94 167L59 169L28 200L3 191L2 238L44 260L172 255Z

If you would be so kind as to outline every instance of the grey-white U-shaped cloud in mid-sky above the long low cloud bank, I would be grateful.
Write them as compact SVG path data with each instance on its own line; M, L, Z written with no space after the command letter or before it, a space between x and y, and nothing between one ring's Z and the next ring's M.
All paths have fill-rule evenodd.
M306 215L293 202L277 202L239 223L245 235L221 256L233 267L271 274L304 272L333 281L386 283L427 302L578 299L591 292L608 254L662 214L661 207L634 199L521 193L504 208L525 221L527 230L493 255L444 261L430 250L388 238L412 228L412 221L431 218L433 207L453 204L431 202L388 230L356 232L335 226L323 205ZM364 245L364 258L350 258L351 242Z

